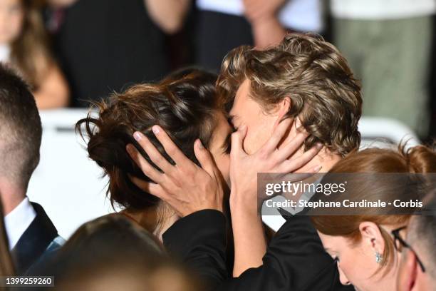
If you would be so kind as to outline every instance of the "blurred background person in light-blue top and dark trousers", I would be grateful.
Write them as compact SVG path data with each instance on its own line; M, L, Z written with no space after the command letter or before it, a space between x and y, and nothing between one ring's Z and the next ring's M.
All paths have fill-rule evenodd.
M241 45L279 44L286 31L323 31L320 0L197 0L196 62L219 71Z

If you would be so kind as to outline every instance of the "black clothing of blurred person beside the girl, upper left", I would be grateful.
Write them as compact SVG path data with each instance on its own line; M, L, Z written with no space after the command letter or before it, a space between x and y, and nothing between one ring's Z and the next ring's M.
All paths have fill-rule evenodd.
M165 34L143 0L80 0L65 11L56 36L72 106L169 72Z

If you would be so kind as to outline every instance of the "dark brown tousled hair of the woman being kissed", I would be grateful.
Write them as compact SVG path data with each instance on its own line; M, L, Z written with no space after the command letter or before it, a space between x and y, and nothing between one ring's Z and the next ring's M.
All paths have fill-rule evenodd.
M188 158L198 164L194 141L199 138L209 147L217 123L215 114L221 108L213 73L194 68L173 73L157 84L139 84L123 93L113 93L108 101L95 105L92 112L78 121L76 131L89 138L88 153L109 176L108 195L112 205L143 210L157 206L158 198L144 193L129 178L150 181L125 150L132 143L151 163L148 155L133 138L135 131L144 133L167 160L174 163L157 141L151 128L157 124L172 138Z

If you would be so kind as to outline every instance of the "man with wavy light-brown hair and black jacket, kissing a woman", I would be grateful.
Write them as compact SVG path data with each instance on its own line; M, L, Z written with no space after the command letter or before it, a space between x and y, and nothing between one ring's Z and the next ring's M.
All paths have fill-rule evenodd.
M225 218L209 153L196 143L202 168L192 165L155 126L177 167L154 155L152 162L163 172L156 173L139 152L131 156L155 182L137 185L182 217L163 234L165 245L217 290L348 290L307 217L287 218L266 245L256 183L257 173L328 171L358 148L362 98L346 59L319 36L289 34L266 51L247 46L231 51L217 87L237 128L229 170L234 278L224 276ZM155 153L145 136L134 137L148 155Z

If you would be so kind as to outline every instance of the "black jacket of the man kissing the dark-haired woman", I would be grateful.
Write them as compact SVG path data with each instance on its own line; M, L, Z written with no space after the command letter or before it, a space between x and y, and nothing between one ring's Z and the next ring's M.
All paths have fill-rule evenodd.
M222 213L202 210L178 220L162 238L211 290L354 290L339 282L336 264L323 250L308 216L287 218L269 243L264 264L237 278L227 275L225 228Z

